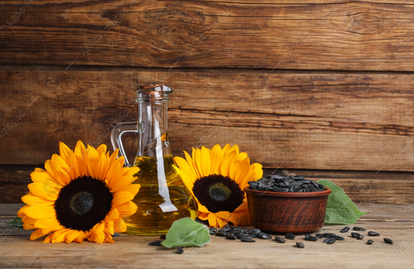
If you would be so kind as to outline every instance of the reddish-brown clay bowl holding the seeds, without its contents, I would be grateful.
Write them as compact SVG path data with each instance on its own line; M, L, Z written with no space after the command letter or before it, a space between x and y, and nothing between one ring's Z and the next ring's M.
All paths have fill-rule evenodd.
M272 192L244 188L250 223L274 233L312 233L323 227L331 189L322 192Z

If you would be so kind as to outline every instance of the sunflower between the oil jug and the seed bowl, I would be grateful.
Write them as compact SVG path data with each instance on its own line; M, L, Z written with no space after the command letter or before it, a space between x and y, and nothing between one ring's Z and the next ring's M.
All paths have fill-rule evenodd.
M198 203L198 217L210 226L223 227L229 221L235 226L249 223L249 211L243 188L248 181L262 177L262 165L253 163L237 145L223 149L215 145L194 149L191 157L175 157L184 184Z

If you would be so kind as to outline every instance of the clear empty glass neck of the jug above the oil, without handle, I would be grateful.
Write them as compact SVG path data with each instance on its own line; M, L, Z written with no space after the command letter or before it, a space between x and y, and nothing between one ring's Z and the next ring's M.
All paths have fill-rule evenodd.
M163 159L172 155L167 132L168 94L171 92L172 89L164 85L137 91L138 122L142 127L137 157Z

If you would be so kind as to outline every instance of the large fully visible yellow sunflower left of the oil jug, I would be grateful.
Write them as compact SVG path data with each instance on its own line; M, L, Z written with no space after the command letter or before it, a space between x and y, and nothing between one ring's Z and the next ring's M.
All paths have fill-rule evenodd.
M30 192L22 197L26 205L17 216L24 229L37 229L30 240L51 233L43 243L113 243L114 233L127 230L123 218L137 211L131 200L140 185L131 183L140 169L123 167L118 149L109 156L106 145L85 148L78 141L72 151L60 142L59 152L45 162L46 170L30 174Z

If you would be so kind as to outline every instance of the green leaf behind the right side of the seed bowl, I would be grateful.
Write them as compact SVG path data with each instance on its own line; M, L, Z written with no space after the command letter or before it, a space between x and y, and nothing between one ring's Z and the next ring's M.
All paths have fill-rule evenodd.
M325 224L354 224L361 216L369 213L359 210L345 194L344 189L335 185L332 181L322 179L318 180L317 183L332 190L332 193L328 196Z

